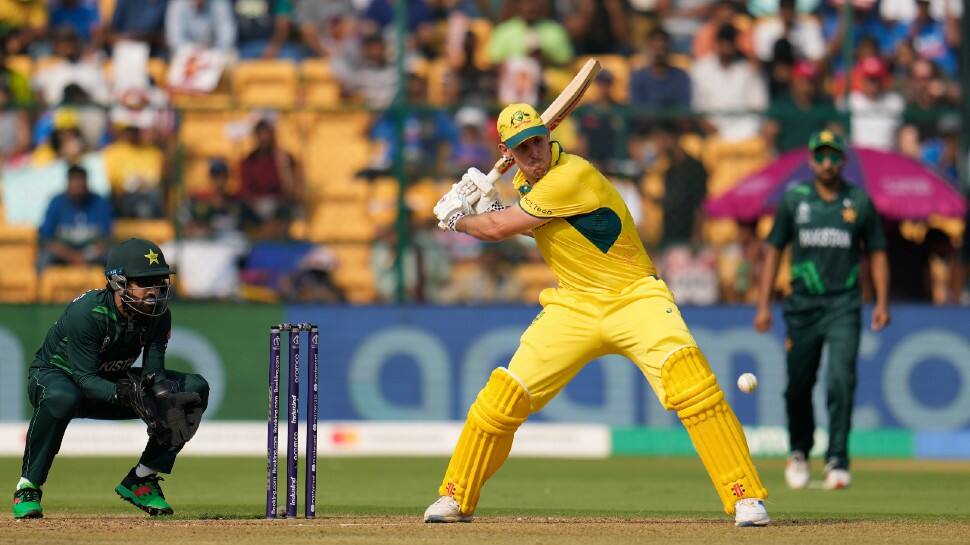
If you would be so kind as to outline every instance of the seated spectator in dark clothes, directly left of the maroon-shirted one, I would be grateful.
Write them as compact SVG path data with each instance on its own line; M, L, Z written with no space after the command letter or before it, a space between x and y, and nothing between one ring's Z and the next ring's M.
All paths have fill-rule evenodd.
M182 235L190 238L236 240L252 212L229 192L229 166L221 159L209 163L209 190L192 195L179 213Z

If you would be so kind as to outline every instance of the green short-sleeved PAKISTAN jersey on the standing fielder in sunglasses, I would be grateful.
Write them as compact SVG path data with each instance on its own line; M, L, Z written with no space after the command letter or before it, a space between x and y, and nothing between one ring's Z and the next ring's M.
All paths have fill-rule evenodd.
M792 296L847 295L859 304L859 254L884 250L879 216L861 188L844 182L838 196L823 200L814 182L785 192L768 242L779 250L789 243ZM836 297L842 299L841 297Z

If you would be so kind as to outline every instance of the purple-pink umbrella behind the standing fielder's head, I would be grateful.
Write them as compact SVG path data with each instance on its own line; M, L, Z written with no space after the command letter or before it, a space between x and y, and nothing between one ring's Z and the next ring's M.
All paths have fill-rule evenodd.
M904 157L866 148L846 150L842 174L861 185L879 214L893 220L922 220L931 215L962 218L967 210L963 195L941 175ZM812 179L808 150L783 154L764 169L738 182L730 191L708 199L709 216L754 221L771 213L793 183Z

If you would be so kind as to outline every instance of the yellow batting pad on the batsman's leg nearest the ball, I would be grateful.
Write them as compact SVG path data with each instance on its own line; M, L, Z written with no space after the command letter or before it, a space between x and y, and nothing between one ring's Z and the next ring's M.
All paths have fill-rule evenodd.
M724 511L733 515L734 502L742 498L766 499L768 491L751 462L741 423L700 349L685 346L668 356L660 379L666 391L664 406L677 411L687 428Z

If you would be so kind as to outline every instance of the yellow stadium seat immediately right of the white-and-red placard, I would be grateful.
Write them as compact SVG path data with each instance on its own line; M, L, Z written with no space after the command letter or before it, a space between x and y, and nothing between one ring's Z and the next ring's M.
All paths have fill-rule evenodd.
M292 108L298 83L299 73L290 61L244 61L232 71L233 93L242 106Z

